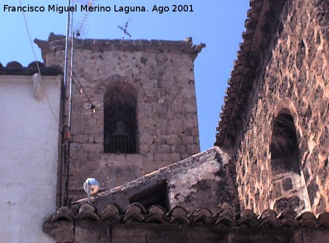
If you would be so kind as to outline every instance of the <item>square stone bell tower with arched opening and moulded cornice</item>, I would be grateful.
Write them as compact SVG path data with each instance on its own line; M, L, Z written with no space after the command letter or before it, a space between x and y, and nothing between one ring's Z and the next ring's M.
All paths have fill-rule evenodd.
M46 66L63 66L63 35L35 42ZM75 40L73 200L85 197L87 177L97 178L104 190L200 151L193 60L204 46L192 45L190 38Z

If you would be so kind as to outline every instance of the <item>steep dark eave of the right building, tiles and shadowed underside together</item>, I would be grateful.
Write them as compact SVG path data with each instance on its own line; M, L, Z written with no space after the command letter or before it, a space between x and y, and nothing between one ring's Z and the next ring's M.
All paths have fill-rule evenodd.
M236 132L241 127L241 116L246 107L260 55L271 40L271 28L275 25L277 13L285 0L250 0L250 9L242 32L243 42L239 44L237 59L233 62L224 104L219 114L215 145L232 145ZM266 34L264 34L266 32ZM228 139L225 139L228 138Z

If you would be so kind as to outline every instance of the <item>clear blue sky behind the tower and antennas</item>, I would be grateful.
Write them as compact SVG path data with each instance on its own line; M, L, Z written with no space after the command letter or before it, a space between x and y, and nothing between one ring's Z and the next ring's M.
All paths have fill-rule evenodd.
M47 39L50 32L65 34L66 13L48 12L48 4L67 5L67 0L21 0L22 5L45 6L44 12L25 12L32 37ZM3 5L18 6L19 0L0 0L1 57L0 62L16 60L27 65L34 56L21 12L4 12ZM242 41L244 20L249 0L95 0L94 5L107 5L110 12L90 12L82 38L121 38L117 25L131 19L128 32L131 39L182 40L191 36L193 43L206 43L194 61L197 112L201 151L213 145L218 114L223 103L227 79L236 59L238 43ZM145 6L148 12L114 12L118 6ZM173 12L172 5L192 5L193 12ZM152 12L153 6L168 6L162 14ZM73 15L73 26L78 26L83 13ZM128 38L130 39L130 38ZM33 44L36 57L42 61L38 47Z

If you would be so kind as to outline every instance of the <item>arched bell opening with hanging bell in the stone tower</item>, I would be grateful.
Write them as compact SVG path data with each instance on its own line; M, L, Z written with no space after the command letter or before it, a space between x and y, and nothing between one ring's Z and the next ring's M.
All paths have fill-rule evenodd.
M136 97L125 86L114 86L104 95L104 152L136 153Z

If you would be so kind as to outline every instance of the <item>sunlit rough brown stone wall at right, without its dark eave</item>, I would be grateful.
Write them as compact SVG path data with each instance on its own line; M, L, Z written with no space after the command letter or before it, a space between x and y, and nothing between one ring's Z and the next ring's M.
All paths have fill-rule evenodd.
M240 204L258 213L269 206L314 213L329 208L328 10L325 1L287 0L274 33L266 32L268 23L257 26L271 42L260 57L235 149ZM271 142L282 110L293 119L299 171L275 174ZM286 158L295 159L292 151Z

